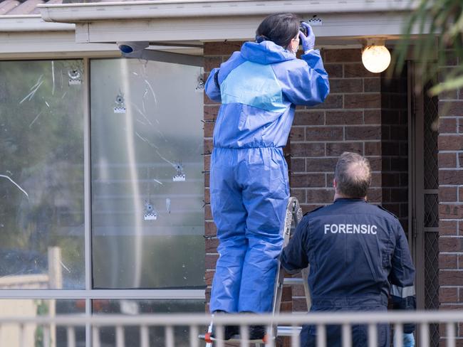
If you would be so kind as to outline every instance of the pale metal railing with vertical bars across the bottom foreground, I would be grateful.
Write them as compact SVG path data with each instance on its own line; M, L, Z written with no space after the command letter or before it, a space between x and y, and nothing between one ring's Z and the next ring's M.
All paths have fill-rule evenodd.
M152 327L164 329L162 336L162 346L178 347L204 346L199 333L204 333L204 327L208 326L211 316L207 314L150 314L138 316L126 315L94 315L94 316L36 316L36 317L2 317L0 318L0 333L5 333L6 329L15 327L19 333L19 347L31 347L26 343L24 333L28 326L41 328L43 341L41 346L51 346L53 338L50 336L51 327L61 327L66 330L66 343L62 346L76 347L76 329L88 326L92 333L92 347L103 347L100 339L100 331L111 327L115 329L115 347L159 347L159 343L150 341L150 331ZM455 347L457 341L457 324L463 322L463 311L389 311L389 312L323 312L311 314L280 314L271 315L252 315L236 314L221 315L214 317L214 324L217 327L219 336L223 336L222 327L224 325L238 325L241 329L243 338L239 341L239 346L255 346L256 342L246 339L247 327L249 325L267 326L267 332L272 333L272 326L278 326L278 336L289 336L292 347L300 346L299 332L301 325L310 324L316 326L317 346L326 347L326 326L339 325L342 331L342 346L351 347L350 326L353 324L365 324L368 326L368 347L378 346L378 324L390 324L395 330L395 346L402 347L403 324L417 324L416 335L419 338L420 347L430 346L430 324L444 324L446 326L446 346ZM188 327L189 337L175 336L175 327ZM125 342L125 329L137 329L139 334L139 344ZM179 338L182 341L179 341ZM276 340L268 338L265 346L275 347ZM214 347L224 347L224 341L214 341ZM34 345L36 346L36 343ZM108 346L106 344L105 346ZM264 346L262 343L261 346ZM88 346L90 347L90 346Z

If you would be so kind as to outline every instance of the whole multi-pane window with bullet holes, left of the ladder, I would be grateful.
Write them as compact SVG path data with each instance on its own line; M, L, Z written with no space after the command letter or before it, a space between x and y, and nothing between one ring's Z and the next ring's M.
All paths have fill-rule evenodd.
M24 315L204 311L201 75L0 61L0 299Z

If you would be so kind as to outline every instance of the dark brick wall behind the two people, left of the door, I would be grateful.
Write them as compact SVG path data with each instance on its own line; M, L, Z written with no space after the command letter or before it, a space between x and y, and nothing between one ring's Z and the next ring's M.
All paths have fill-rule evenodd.
M204 70L227 60L241 43L205 43ZM360 49L325 50L323 61L330 75L331 94L318 107L298 107L290 134L291 194L304 212L333 201L333 170L343 151L370 159L373 182L368 198L386 203L402 220L407 218L407 107L406 83L369 73ZM219 105L204 99L204 166L206 171L206 280L207 299L217 261L216 228L209 206L209 154ZM383 184L384 183L384 184ZM404 200L405 198L405 200ZM404 207L405 206L405 207ZM406 224L406 223L405 223ZM293 302L291 305L291 294ZM302 286L285 289L282 308L306 309Z

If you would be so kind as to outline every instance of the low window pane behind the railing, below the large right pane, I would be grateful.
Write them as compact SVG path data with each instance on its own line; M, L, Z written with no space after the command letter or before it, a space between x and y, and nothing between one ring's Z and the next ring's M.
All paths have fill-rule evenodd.
M204 312L204 301L200 300L93 300L93 314L166 314ZM206 327L199 327L204 332ZM165 346L165 329L160 326L149 327L150 346ZM174 345L192 346L189 341L189 328L175 326ZM140 346L140 326L124 327L125 346ZM115 328L108 326L100 329L100 343L104 346L116 346Z

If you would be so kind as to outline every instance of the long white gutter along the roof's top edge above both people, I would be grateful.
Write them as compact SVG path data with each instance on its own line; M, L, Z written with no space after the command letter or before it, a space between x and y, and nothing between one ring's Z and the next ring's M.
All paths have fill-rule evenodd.
M407 11L416 0L161 0L85 4L41 4L45 21L78 23L114 19L192 18L209 16L266 16L294 14L368 13Z

